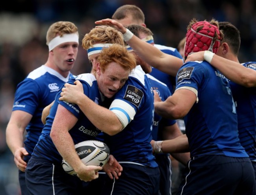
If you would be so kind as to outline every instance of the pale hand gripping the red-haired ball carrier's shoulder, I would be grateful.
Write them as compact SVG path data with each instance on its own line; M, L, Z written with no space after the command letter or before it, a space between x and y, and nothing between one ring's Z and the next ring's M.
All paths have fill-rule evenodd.
M80 96L83 94L83 85L79 80L74 82L74 85L65 83L65 87L62 88L62 92L60 93L61 97L59 100L66 101L72 104L78 104L80 100Z

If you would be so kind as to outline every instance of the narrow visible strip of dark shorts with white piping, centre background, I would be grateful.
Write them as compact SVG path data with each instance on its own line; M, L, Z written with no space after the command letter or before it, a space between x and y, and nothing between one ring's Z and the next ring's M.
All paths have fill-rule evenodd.
M171 158L169 154L156 154L156 162L160 170L160 186L161 195L171 195Z

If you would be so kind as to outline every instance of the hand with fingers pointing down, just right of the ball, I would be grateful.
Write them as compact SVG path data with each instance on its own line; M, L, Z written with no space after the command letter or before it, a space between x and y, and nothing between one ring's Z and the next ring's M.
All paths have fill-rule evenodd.
M108 162L103 166L103 171L106 172L110 179L113 179L113 176L118 179L121 176L122 166L113 155L110 155Z

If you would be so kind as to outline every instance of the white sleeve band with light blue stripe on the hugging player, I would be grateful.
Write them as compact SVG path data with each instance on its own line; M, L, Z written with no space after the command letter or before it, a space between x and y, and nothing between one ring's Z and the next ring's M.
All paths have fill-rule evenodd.
M109 110L115 113L117 118L120 120L123 127L122 129L124 129L131 120L134 119L136 114L135 109L130 104L119 99L116 99L111 103Z

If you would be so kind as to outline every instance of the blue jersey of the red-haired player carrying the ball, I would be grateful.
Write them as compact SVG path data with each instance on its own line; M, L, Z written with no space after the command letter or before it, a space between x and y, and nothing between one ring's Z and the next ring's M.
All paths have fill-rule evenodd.
M100 91L98 90L98 84L94 75L90 73L78 75L76 78L70 79L69 84L74 84L75 80L80 80L83 85L84 94L97 104L102 103ZM63 86L62 86L63 87ZM61 87L61 88L62 88ZM98 129L88 120L87 117L80 110L78 105L70 104L69 102L59 101L61 90L55 97L55 102L50 109L50 114L46 118L46 124L43 128L42 135L39 137L39 141L33 151L33 156L47 159L50 162L61 163L62 157L58 150L54 146L52 139L50 138L50 130L52 128L52 122L56 115L58 104L61 104L68 109L75 117L78 118L78 122L69 130L69 133L74 141L74 144L85 140L95 139L100 133Z

